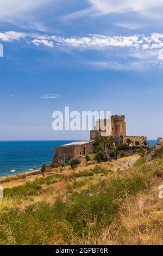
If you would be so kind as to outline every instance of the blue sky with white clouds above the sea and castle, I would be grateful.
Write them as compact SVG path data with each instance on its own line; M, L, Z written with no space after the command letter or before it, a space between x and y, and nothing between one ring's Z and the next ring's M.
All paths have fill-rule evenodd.
M162 136L162 0L0 0L0 140L54 132L53 111L125 114L128 135Z

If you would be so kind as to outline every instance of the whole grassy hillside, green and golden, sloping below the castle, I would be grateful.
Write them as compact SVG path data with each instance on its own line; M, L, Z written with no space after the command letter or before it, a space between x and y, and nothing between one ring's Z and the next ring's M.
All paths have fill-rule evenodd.
M0 244L162 245L163 160L136 157L1 180Z

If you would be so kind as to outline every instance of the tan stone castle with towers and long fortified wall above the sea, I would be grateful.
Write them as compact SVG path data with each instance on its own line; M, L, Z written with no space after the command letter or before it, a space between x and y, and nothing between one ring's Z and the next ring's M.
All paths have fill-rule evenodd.
M55 147L53 163L68 163L70 159L75 157L95 153L94 141L96 137L111 137L114 139L116 147L125 143L128 138L132 141L131 145L134 145L136 141L139 141L140 144L147 141L147 137L144 136L127 136L125 116L112 115L110 119L96 121L94 130L90 131L90 141L73 142ZM102 147L106 150L105 143L102 143Z

